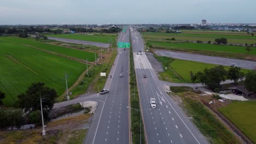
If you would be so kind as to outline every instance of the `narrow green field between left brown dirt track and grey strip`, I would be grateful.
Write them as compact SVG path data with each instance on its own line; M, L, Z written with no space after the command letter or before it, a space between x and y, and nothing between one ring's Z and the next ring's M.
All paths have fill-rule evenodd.
M9 41L10 43L16 43L20 45L30 45L37 47L39 49L52 51L56 53L61 53L62 55L67 55L70 57L75 57L79 59L88 59L89 62L95 61L95 54L93 52L87 52L82 50L69 49L63 46L45 44L40 41L31 40L31 39L22 39L18 37L1 37L0 41ZM97 56L96 56L97 57Z

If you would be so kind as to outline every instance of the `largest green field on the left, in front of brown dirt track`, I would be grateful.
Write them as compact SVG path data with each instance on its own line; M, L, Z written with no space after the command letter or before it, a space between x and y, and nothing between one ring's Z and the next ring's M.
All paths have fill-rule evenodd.
M0 40L0 61L0 91L6 94L3 102L9 106L13 105L18 94L26 91L31 82L44 82L61 95L65 91L65 71L68 75L68 86L71 86L86 69L82 63L15 41Z

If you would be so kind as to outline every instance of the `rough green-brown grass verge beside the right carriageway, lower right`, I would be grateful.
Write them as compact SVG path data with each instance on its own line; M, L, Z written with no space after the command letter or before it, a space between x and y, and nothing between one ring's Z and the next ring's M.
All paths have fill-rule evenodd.
M201 97L193 92L176 93L181 98L181 106L197 128L205 135L210 143L241 143L219 119L206 108L201 101L191 97ZM177 97L173 96L172 97Z

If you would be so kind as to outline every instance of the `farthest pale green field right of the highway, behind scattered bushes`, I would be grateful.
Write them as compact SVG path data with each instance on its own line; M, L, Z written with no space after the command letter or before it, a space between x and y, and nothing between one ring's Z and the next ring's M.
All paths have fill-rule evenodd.
M227 31L182 31L182 33L153 33L143 32L143 38L152 41L161 41L164 39L171 39L181 41L209 41L214 42L216 38L226 38L229 44L255 44L256 36L247 35L246 32L227 32Z

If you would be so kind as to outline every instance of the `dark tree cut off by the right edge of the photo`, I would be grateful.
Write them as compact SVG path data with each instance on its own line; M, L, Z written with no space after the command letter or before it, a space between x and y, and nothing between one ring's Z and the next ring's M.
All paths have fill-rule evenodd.
M248 91L256 92L256 71L249 71L246 74L245 87Z

